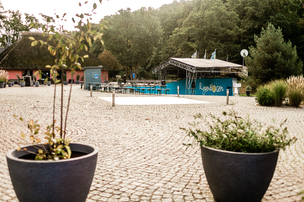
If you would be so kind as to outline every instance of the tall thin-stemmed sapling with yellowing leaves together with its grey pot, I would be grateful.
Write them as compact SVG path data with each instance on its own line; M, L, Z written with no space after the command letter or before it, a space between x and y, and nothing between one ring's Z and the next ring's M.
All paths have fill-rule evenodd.
M71 78L73 78L75 70L81 70L78 59L88 58L88 55L82 56L81 51L85 50L83 43L91 45L89 40L91 41L92 37L95 40L101 40L102 37L98 31L91 30L92 26L84 19L83 14L77 16L80 21L76 28L80 31L76 31L73 38L54 31L56 29L53 26L50 26L50 30L43 26L43 33L46 33L47 38L45 40L29 37L32 40L32 46L42 44L42 46L47 46L50 54L57 56L60 54L60 57L57 57L54 65L46 66L50 68L55 84L52 123L47 127L40 127L37 121L30 120L26 125L33 144L12 149L6 154L12 185L20 202L46 200L85 202L92 184L98 148L88 144L70 143L67 134L67 117L73 84L70 86L67 99L63 94L61 96L56 94L56 86L58 86L56 84L60 83L61 92L64 88L63 77L60 80L56 79L58 72L60 71L63 75L64 69L70 69ZM102 27L104 25L101 25ZM38 28L38 25L35 28ZM44 43L51 39L54 39L54 43ZM67 59L70 60L69 63ZM38 74L38 71L35 74ZM59 104L58 102L55 104L56 97L61 97L59 113L55 110L55 106L57 108ZM64 104L65 100L67 100L66 104ZM59 116L56 118L60 120L58 124L55 116ZM23 121L21 117L19 119ZM42 128L46 130L43 131ZM45 143L41 143L39 139L41 135L46 135ZM22 133L21 137L25 137L25 134Z

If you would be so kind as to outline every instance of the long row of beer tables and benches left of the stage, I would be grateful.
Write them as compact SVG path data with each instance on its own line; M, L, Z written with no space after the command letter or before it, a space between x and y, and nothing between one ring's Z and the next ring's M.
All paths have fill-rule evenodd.
M130 93L139 93L139 94L169 94L170 89L166 88L167 85L149 85L149 84L113 84L113 83L89 83L88 84L88 90L91 90L92 85L92 91L111 91L112 89L115 89L115 92L121 92L121 93L127 93L128 91ZM83 83L81 83L82 88ZM118 86L114 86L118 85Z

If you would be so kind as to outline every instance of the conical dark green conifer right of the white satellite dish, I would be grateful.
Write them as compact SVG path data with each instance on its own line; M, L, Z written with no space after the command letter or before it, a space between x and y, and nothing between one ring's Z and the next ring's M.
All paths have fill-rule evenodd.
M254 36L257 47L251 46L246 57L248 72L254 79L266 83L275 78L288 78L302 73L303 62L296 47L290 41L284 42L281 28L275 29L271 23L262 28L261 37Z

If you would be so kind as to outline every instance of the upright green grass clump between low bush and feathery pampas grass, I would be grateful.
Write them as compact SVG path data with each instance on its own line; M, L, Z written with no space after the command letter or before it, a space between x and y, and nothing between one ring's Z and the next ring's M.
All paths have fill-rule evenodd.
M283 79L270 82L272 98L275 106L281 107L287 95L288 86Z

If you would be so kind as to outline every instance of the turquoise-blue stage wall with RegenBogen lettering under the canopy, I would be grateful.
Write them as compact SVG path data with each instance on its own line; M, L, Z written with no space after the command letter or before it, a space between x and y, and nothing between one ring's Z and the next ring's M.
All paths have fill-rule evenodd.
M170 94L177 94L177 86L179 86L179 94L186 94L186 79L174 81L166 84L170 88ZM196 79L195 94L196 95L223 95L226 96L226 89L229 89L229 96L233 96L232 78L200 78Z

